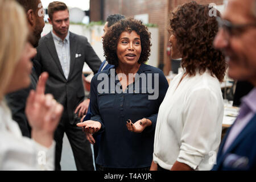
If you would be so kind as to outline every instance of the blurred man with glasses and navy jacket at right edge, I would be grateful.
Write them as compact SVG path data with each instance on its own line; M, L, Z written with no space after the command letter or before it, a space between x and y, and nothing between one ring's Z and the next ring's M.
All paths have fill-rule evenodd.
M226 55L228 75L249 81L253 90L242 98L240 113L224 138L213 170L256 169L256 0L230 0L214 46Z

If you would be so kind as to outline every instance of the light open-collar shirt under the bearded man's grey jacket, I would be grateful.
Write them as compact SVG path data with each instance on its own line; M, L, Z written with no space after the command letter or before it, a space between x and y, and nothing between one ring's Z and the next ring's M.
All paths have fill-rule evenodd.
M62 70L64 72L65 78L68 80L69 75L69 67L70 67L70 42L69 42L69 32L64 41L59 38L57 35L55 35L52 32L53 41L55 44L55 48L57 51L57 55L60 60L60 64L62 67Z

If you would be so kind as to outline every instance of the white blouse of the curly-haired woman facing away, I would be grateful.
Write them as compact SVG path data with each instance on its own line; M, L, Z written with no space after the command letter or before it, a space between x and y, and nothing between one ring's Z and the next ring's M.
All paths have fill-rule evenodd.
M209 170L221 141L224 102L220 82L209 71L181 80L183 74L171 81L160 105L153 160L165 169L177 160L193 169Z

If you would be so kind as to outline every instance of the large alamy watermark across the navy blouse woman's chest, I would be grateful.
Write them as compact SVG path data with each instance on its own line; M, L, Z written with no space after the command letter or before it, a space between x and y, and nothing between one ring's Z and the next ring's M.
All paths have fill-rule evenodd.
M123 85L127 85L127 76L123 73L118 73L115 76L115 69L110 69L110 82L109 76L106 73L100 73L97 80L102 80L97 86L99 94L148 93L148 100L156 100L159 96L159 73L129 73L128 81L133 84L128 85L125 90L122 89L120 82L115 84L115 80L122 80Z

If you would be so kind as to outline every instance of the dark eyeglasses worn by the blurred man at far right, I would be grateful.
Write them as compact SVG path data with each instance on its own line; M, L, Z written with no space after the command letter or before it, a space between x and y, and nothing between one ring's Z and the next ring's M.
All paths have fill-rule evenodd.
M233 24L228 20L221 19L219 16L216 17L218 27L223 28L230 36L240 35L248 27L256 27L256 23L247 24Z

